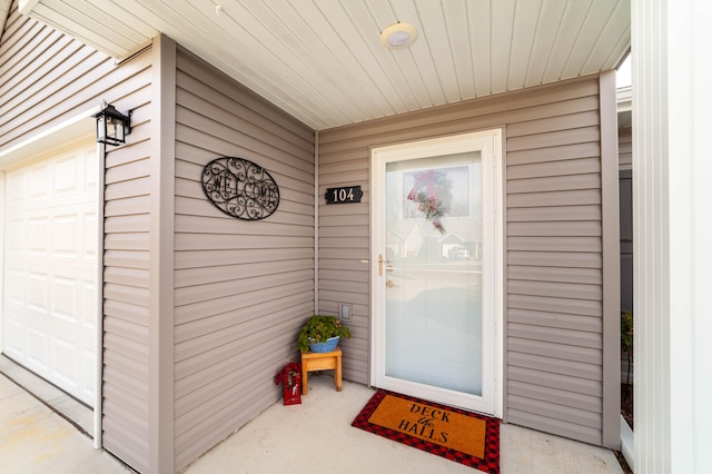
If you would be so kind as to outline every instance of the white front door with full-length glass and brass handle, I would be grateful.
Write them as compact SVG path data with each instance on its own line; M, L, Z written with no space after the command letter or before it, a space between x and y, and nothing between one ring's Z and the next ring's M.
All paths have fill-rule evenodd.
M498 415L500 142L374 149L374 385Z

